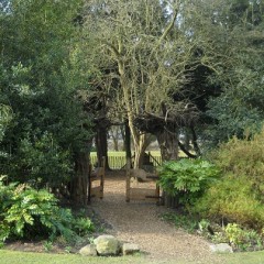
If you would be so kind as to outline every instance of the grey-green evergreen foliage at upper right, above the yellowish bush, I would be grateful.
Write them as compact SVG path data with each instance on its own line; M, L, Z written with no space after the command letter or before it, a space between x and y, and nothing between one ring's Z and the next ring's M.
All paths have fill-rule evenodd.
M217 2L221 7L215 12L215 20L227 25L224 38L231 63L223 64L211 76L212 82L220 87L220 95L210 98L207 111L213 120L207 135L215 145L232 135L243 138L246 130L260 131L264 113L263 1Z

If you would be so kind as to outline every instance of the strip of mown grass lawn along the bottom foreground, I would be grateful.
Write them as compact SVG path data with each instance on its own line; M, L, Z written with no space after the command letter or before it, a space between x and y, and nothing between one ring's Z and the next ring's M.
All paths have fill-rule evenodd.
M264 264L264 251L234 253L234 254L220 254L217 255L218 262L221 264ZM219 262L220 260L220 262ZM154 260L147 260L144 255L136 256L120 256L120 257L85 257L74 254L51 254L51 253L28 253L19 251L0 250L1 264L156 264ZM161 261L160 263L166 263ZM175 264L215 264L201 262L167 262Z

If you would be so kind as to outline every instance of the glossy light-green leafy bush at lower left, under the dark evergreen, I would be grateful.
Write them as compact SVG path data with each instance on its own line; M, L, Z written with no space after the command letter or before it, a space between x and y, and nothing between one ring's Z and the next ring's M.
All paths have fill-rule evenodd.
M58 235L74 241L92 230L90 219L75 218L69 209L59 208L47 190L4 185L0 178L0 242L9 238L54 240Z

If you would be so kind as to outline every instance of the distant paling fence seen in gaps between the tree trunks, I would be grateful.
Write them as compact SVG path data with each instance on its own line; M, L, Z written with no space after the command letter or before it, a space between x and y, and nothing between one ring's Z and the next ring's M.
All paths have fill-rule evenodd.
M154 167L162 164L161 153L157 151L146 152L150 155L150 161L153 163ZM91 165L95 166L97 164L97 153L90 153ZM110 168L120 169L125 166L125 152L108 152L108 163Z

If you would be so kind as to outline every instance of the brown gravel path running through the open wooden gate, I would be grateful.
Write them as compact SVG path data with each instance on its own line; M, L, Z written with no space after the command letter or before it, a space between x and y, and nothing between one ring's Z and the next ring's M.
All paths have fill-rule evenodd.
M161 220L160 216L168 211L167 208L155 202L125 202L124 173L107 175L105 197L102 200L94 198L91 207L111 227L107 233L139 244L152 263L220 263L209 252L207 241Z

